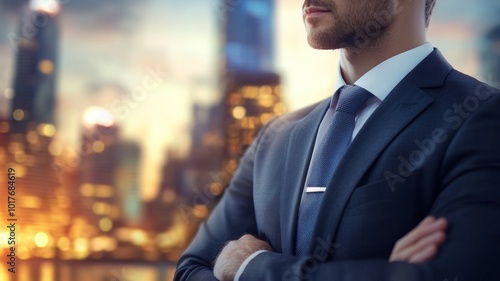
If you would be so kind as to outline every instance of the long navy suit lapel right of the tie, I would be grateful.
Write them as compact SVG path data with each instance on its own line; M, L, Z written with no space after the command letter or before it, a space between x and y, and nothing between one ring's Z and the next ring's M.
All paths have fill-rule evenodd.
M399 132L433 103L420 88L442 85L450 70L451 66L435 50L396 86L368 119L328 184L310 253L315 250L318 238L334 242L343 211L362 176Z

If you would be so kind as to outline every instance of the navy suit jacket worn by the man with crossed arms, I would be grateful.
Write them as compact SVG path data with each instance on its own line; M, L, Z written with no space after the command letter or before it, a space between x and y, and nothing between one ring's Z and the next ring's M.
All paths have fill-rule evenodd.
M381 81L383 83L383 81ZM216 280L214 260L243 234L266 240L240 280L500 280L500 95L434 50L380 104L326 193L310 256L295 257L297 215L325 100L269 122L247 150L175 280ZM428 215L449 222L430 262L389 263Z

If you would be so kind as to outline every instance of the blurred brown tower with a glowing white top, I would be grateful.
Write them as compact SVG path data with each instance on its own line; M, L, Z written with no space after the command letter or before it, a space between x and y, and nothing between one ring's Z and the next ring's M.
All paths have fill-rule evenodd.
M81 216L92 227L99 226L104 233L112 230L113 223L123 219L120 203L125 200L115 184L115 173L121 172L118 170L119 128L113 119L105 119L106 113L92 107L84 114L87 123L82 130L76 186L72 189L74 215ZM127 177L135 179L133 175ZM123 178L120 186L128 188L130 182ZM108 222L104 227L103 220Z

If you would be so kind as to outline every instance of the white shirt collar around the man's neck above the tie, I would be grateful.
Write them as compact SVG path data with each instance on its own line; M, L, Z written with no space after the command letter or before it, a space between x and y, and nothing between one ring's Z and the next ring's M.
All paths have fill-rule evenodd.
M433 47L431 43L425 43L416 48L398 54L389 58L370 71L361 76L354 84L364 88L372 93L380 101L383 101L387 95L396 87L403 78L410 73L420 62L422 62L430 53ZM383 82L381 82L383 81ZM337 81L335 83L335 92L346 85L342 72L337 72Z

